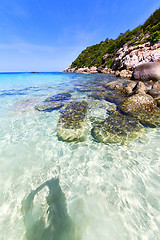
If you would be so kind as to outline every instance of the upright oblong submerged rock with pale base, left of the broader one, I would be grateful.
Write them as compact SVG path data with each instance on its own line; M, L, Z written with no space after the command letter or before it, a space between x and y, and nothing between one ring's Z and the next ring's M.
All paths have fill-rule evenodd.
M87 103L71 102L61 112L57 125L58 137L63 141L83 141L88 133L85 120Z

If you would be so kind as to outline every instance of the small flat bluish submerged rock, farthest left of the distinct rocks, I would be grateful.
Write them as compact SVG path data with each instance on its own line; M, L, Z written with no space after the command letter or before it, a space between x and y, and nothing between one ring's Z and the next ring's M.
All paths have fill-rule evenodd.
M53 111L63 107L64 104L62 102L49 102L43 103L42 105L35 106L35 109L38 111Z

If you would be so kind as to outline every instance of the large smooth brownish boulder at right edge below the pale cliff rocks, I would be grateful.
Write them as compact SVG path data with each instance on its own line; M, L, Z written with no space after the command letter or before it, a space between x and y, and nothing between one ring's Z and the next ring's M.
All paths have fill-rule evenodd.
M160 80L160 62L148 62L136 66L132 78L142 81Z

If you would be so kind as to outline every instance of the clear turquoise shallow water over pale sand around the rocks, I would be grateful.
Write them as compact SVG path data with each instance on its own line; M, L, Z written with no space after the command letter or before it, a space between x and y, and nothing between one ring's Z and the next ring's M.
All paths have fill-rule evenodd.
M86 81L110 81L107 75L67 73L0 74L0 239L24 240L22 201L39 185L59 178L74 239L160 239L160 133L147 128L129 145L59 141L59 111L38 112L35 104L56 93L75 100ZM108 103L96 101L89 114L105 116ZM44 188L27 221L47 209ZM47 238L46 238L47 239ZM69 238L64 236L63 239ZM56 239L59 240L59 239Z

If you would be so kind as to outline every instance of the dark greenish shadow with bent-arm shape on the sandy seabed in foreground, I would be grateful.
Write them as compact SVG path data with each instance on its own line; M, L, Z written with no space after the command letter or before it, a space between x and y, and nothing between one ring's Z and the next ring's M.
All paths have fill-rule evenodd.
M35 196L48 187L48 209L44 216L36 218ZM42 203L41 203L42 204ZM68 215L65 195L59 179L51 179L33 190L22 202L22 212L27 240L75 240L74 224Z

